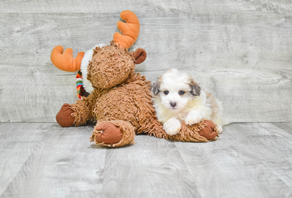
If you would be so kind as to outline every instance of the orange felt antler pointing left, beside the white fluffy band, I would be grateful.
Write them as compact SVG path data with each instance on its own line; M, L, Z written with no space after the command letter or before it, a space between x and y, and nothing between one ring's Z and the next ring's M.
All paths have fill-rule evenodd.
M73 58L73 50L71 48L65 49L58 45L54 47L51 53L51 61L58 68L66 72L76 72L80 70L81 60L84 56L84 52L79 52L75 58Z

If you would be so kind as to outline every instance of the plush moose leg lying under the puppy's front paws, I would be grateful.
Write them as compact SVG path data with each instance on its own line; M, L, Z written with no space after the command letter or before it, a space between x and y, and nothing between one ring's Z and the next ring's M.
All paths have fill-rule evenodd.
M183 142L208 142L216 140L218 130L211 120L202 120L200 123L187 125L181 123L181 131L178 134L169 136L171 140L179 140Z

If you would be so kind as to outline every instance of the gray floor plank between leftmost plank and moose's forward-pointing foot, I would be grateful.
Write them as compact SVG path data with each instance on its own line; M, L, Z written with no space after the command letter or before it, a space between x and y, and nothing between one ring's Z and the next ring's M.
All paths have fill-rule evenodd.
M98 197L105 147L89 142L92 130L93 124L62 128L55 123L2 197Z

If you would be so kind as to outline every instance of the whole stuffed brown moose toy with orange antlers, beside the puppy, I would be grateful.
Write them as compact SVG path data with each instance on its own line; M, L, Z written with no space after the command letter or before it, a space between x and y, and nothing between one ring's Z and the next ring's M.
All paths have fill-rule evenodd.
M73 50L56 46L51 53L52 63L63 71L81 70L87 97L80 97L74 104L64 104L56 120L60 126L80 126L86 121L97 123L90 137L95 144L117 147L133 143L136 133L188 142L208 142L218 135L210 120L191 126L182 123L181 131L168 135L157 120L152 106L151 82L145 76L134 73L136 64L146 59L146 52L138 48L129 52L138 38L140 24L137 16L122 11L110 45L99 45L87 52L79 52L73 58Z

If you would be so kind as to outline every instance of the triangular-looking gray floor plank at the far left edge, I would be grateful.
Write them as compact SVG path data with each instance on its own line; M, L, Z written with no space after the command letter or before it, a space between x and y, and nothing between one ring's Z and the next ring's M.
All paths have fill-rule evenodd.
M53 123L0 123L0 196Z

